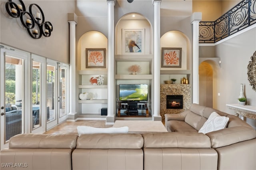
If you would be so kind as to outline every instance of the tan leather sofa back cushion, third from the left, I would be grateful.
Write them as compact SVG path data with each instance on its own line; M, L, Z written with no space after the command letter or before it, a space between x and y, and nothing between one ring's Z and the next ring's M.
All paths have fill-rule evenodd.
M210 148L210 138L198 132L145 133L144 148Z

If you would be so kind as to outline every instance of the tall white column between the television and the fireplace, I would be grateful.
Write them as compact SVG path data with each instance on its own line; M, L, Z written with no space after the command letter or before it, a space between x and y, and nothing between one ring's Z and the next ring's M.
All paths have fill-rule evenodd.
M162 121L160 116L160 0L154 5L154 121Z

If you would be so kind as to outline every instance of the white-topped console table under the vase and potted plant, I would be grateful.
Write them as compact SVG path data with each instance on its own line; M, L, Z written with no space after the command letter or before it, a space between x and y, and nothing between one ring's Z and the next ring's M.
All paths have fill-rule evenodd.
M242 120L244 120L244 117L256 120L256 106L239 104L226 104L226 106L233 109L238 115L241 115Z

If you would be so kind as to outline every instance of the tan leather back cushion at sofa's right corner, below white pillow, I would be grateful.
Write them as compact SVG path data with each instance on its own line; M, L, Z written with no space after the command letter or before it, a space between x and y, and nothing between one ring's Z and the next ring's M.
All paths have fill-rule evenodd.
M210 137L212 148L219 148L230 144L256 138L256 131L251 127L230 127L206 133Z

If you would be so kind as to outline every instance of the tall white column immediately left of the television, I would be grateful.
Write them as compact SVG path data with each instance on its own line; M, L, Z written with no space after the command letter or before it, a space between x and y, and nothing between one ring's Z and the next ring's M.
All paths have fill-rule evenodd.
M114 124L114 0L108 0L108 115L106 124Z

